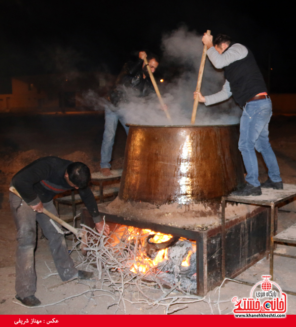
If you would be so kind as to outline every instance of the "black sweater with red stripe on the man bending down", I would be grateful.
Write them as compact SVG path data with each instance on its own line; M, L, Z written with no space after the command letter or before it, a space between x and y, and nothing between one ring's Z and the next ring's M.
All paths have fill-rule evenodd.
M47 203L56 194L74 189L64 178L71 163L72 161L58 157L39 158L16 173L11 184L28 205L35 206L40 201ZM79 188L78 192L94 222L100 222L102 218L91 189Z

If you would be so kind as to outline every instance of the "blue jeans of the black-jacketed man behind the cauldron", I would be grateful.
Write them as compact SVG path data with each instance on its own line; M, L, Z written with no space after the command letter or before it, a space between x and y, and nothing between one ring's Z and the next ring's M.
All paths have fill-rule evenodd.
M108 106L105 107L105 130L103 134L103 142L101 147L101 168L110 168L110 161L112 155L112 148L115 138L118 120L124 127L126 134L128 134L128 127L125 125L126 121L118 111L111 111Z

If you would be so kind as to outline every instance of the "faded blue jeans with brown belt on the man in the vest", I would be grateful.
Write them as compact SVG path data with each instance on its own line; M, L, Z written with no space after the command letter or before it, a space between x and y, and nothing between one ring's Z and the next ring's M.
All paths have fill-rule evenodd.
M246 104L240 120L238 148L242 153L247 171L246 181L259 186L258 162L255 149L263 156L272 182L281 182L279 166L268 139L268 123L272 115L269 98Z

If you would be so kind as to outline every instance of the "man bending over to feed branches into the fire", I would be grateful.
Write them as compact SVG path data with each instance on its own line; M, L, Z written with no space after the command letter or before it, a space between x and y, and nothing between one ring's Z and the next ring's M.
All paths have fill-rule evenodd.
M34 250L36 247L36 221L49 247L62 281L74 277L89 279L92 273L77 270L69 255L64 235L59 232L60 225L43 214L43 208L57 216L53 197L69 189L78 189L79 195L92 216L96 228L105 235L109 226L100 217L94 195L88 187L89 168L81 162L72 162L58 157L44 157L32 162L14 175L11 185L16 188L20 199L9 194L11 212L17 228L16 250L16 298L28 306L37 306L35 297L36 271Z

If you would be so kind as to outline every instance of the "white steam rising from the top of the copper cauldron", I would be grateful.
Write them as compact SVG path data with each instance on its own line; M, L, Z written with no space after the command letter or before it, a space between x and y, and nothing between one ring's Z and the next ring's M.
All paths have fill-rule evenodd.
M164 71L165 82L157 79L157 85L172 121L169 121L161 109L155 93L140 98L130 88L126 88L124 101L118 104L118 113L130 124L140 125L189 125L193 108L193 92L196 89L197 76L203 51L202 36L189 32L182 27L162 38L163 60L160 65ZM159 66L160 67L160 66ZM167 76L167 78L166 78ZM169 80L169 82L166 82ZM211 95L219 92L224 84L222 71L216 70L207 58L201 92ZM196 113L196 125L236 124L241 109L232 98L206 107L199 103Z

